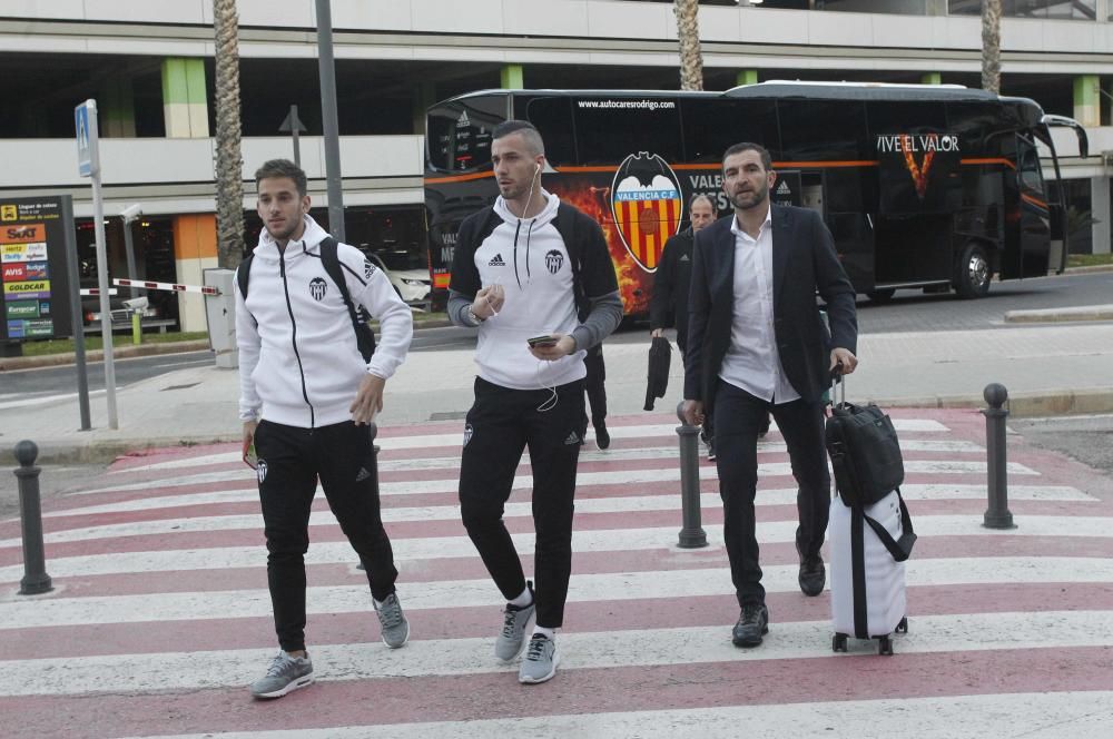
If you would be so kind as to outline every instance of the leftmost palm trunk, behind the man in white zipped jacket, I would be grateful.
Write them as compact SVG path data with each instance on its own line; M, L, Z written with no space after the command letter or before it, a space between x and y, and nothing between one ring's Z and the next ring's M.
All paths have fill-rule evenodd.
M239 16L236 0L213 0L216 33L217 264L239 265L244 254L244 158L239 147Z

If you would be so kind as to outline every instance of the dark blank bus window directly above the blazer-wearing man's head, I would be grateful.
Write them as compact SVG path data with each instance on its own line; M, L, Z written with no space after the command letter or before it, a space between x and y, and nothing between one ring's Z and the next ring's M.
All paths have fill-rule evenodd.
M719 164L735 144L750 141L780 155L777 105L772 100L686 98L680 101L684 131L684 161Z

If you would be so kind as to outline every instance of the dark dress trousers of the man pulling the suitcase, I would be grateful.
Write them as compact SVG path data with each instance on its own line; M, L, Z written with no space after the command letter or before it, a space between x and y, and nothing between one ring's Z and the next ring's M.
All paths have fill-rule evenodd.
M774 405L720 381L715 400L716 466L723 509L722 535L739 605L765 602L754 497L758 483L757 437L769 413L785 437L798 485L800 523L796 549L800 556L819 554L827 531L830 475L824 446L823 403L800 398Z

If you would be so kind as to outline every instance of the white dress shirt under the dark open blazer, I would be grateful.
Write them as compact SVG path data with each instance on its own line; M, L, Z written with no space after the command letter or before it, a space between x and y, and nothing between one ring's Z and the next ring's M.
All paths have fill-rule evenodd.
M774 403L798 400L785 376L777 352L772 315L772 208L766 211L758 237L751 238L731 218L735 235L735 309L730 348L719 377L750 395Z

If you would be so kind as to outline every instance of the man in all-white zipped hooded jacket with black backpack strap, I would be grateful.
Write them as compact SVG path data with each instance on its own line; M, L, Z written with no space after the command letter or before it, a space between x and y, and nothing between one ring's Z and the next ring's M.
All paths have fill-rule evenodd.
M353 246L335 244L307 214L306 178L285 159L255 175L264 229L236 290L239 417L244 453L254 442L267 540L267 580L280 651L252 684L278 698L313 682L305 651L305 562L317 480L367 571L382 638L405 644L410 624L395 593L397 570L380 515L370 426L383 388L413 337L410 308L390 279ZM322 258L336 257L355 306L378 318L380 341L365 362L341 289ZM240 280L243 284L243 280Z

